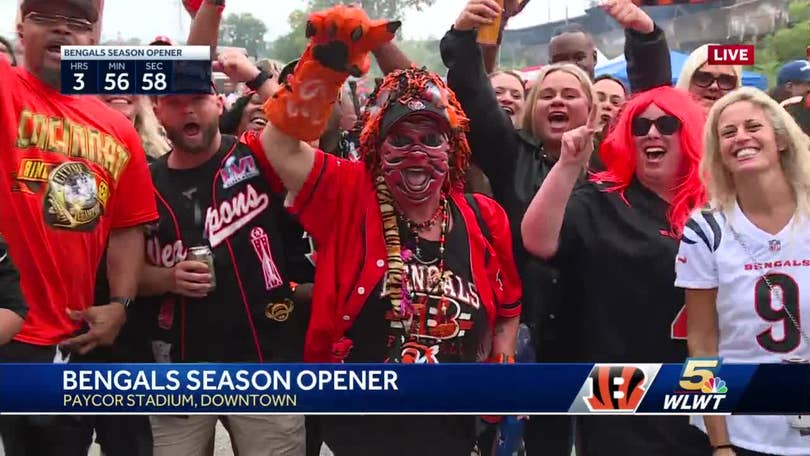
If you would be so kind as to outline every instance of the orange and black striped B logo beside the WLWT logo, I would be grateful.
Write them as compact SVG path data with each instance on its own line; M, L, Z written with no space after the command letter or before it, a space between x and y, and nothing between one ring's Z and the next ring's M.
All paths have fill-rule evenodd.
M583 399L592 412L633 412L647 391L647 375L635 366L597 365L588 378L591 395Z

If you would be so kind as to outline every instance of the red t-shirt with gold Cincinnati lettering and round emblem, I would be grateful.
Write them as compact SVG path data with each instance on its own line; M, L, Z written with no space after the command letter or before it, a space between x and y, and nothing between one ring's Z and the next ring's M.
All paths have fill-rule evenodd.
M65 96L0 59L0 232L30 311L16 340L53 345L93 304L110 229L157 219L132 123L94 96Z

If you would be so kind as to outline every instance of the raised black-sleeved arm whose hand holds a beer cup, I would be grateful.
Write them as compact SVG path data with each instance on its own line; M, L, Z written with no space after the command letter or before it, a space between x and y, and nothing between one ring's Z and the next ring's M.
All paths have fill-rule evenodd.
M510 184L517 136L492 90L475 29L498 14L500 7L493 0L470 0L441 41L442 60L449 70L447 85L470 119L467 140L473 161L487 175L496 195Z

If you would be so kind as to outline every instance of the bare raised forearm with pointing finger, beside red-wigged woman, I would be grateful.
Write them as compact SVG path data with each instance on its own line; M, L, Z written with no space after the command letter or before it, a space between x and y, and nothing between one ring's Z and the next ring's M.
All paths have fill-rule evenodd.
M523 246L540 258L549 259L559 250L565 207L593 153L596 111L586 125L563 134L560 159L534 195L520 224Z

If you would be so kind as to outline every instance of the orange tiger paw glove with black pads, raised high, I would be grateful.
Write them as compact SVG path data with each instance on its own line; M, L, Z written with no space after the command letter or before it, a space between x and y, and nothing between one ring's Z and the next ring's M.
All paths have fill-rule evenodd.
M372 21L355 6L337 5L313 13L307 45L293 73L264 105L267 120L302 141L320 138L340 87L366 74L368 53L394 39L399 22Z

